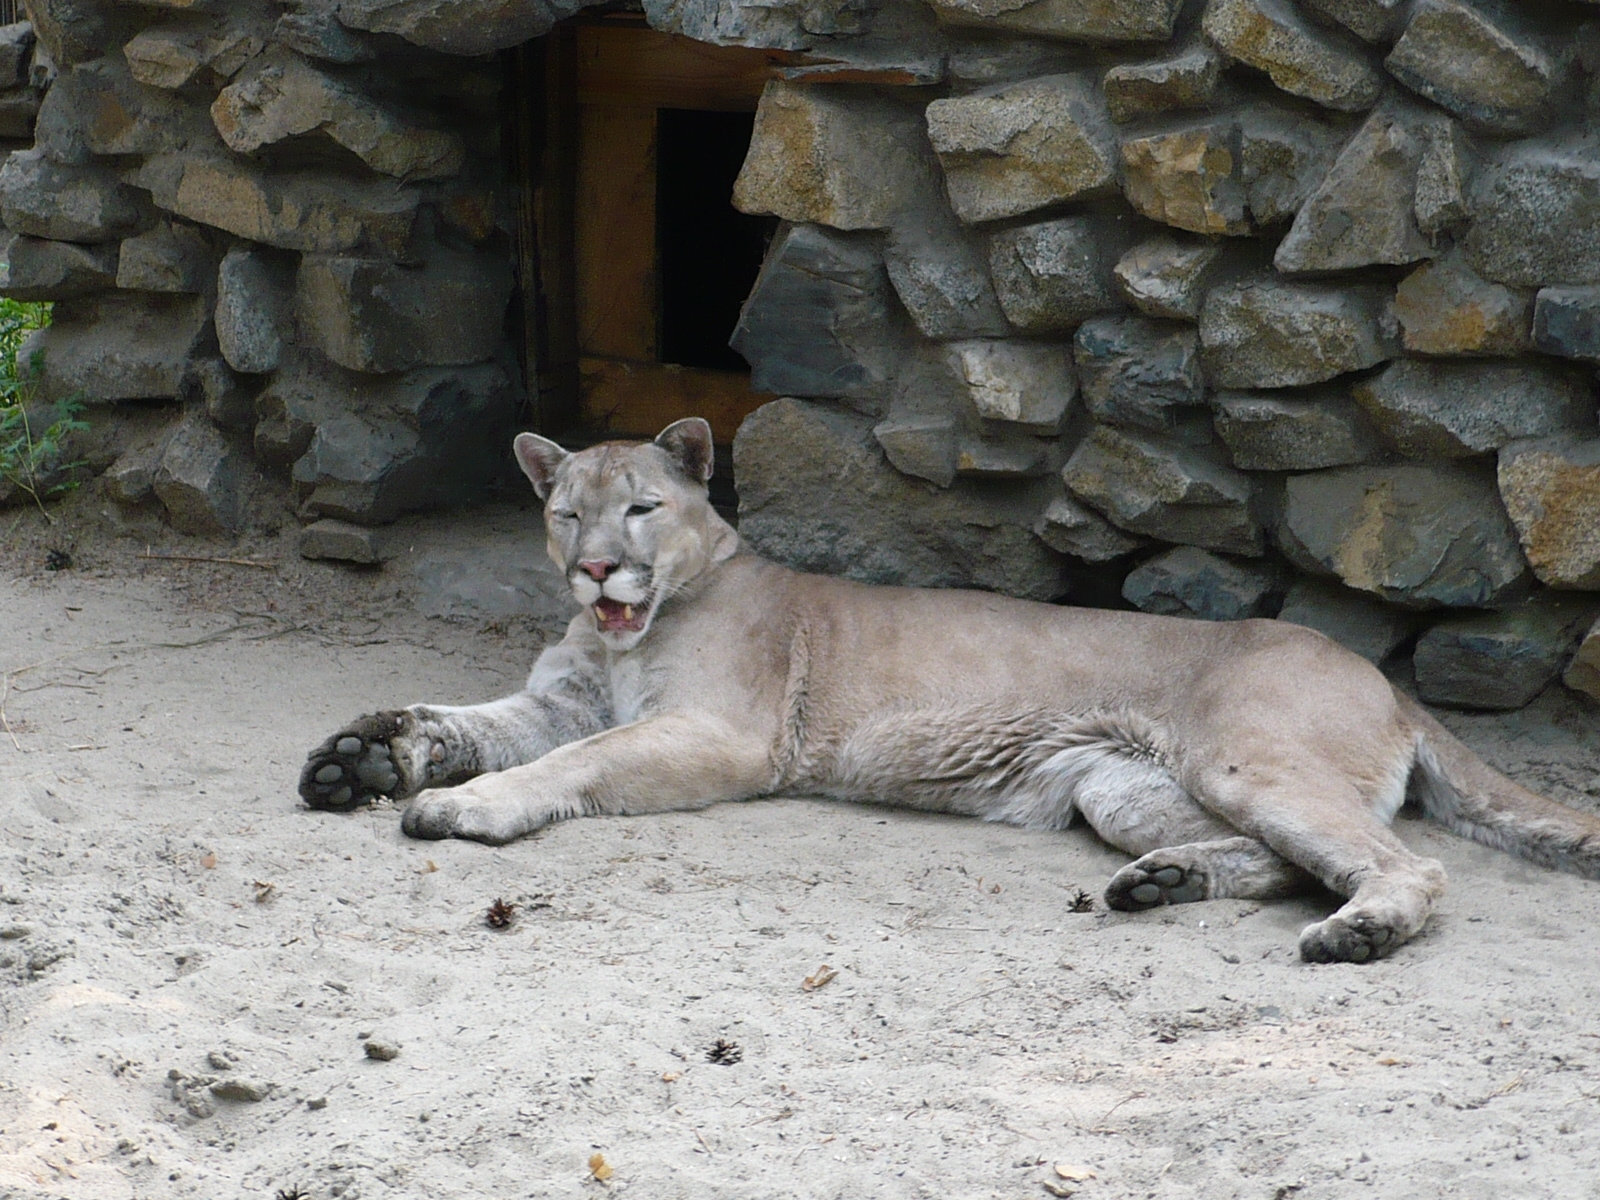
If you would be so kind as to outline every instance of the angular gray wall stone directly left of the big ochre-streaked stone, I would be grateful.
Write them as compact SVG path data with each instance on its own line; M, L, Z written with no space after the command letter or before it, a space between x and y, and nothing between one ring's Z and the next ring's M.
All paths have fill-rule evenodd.
M1203 450L1096 426L1061 477L1074 496L1130 533L1226 554L1262 550L1250 478Z

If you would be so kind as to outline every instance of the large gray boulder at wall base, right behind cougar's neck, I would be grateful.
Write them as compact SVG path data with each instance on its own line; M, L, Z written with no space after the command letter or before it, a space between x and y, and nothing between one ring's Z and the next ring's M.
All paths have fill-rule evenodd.
M1029 531L1050 478L939 491L890 467L866 419L805 400L747 418L733 466L739 536L789 566L1034 600L1067 590L1066 562Z

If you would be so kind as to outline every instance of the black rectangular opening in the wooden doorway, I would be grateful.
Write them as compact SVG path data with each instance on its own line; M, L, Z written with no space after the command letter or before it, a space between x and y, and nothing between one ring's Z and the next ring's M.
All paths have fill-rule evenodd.
M747 216L731 200L754 126L752 112L659 109L656 114L664 363L749 370L728 347L728 338L778 227L776 218Z

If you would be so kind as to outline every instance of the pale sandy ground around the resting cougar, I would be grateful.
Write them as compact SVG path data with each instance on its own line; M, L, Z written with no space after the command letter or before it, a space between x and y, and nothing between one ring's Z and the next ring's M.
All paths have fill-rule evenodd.
M1309 966L1328 898L1107 914L1082 830L781 802L410 842L302 808L299 763L520 682L531 514L413 522L384 571L11 520L0 1197L1600 1197L1597 885L1402 821L1432 925ZM1595 806L1571 698L1448 720Z

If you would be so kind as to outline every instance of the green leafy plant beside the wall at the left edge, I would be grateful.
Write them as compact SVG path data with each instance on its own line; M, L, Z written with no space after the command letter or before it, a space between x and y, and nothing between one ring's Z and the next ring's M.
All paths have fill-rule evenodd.
M70 474L82 464L64 461L64 442L88 429L78 419L83 408L78 397L53 405L43 429L34 427L37 411L29 413L40 363L37 354L27 363L19 362L21 347L29 333L50 325L50 307L0 299L0 482L27 494L40 512L46 499L77 486Z

